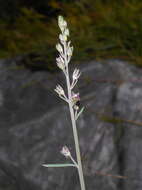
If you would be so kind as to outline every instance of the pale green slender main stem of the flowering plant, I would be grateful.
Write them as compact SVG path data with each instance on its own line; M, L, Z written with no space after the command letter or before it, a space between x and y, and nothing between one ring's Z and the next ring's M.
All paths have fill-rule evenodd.
M71 84L70 84L69 70L68 70L68 63L67 63L66 44L64 44L64 53L65 53L65 62L67 66L66 67L66 83L67 83L67 90L68 90L68 104L69 104L69 110L70 110L70 116L71 116L71 122L72 122L72 128L73 128L73 136L74 136L75 150L76 150L76 157L77 157L77 164L78 164L78 174L79 174L81 190L85 190L85 182L84 182L84 176L83 176L83 170L82 170L78 133L77 133L77 128L76 128L74 110L72 106Z

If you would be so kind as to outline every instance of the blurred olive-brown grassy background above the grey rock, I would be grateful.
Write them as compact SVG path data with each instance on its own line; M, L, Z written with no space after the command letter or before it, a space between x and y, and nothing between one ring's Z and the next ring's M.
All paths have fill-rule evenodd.
M141 66L141 9L140 0L1 0L0 57L32 54L53 69L61 14L69 23L74 60L119 58Z

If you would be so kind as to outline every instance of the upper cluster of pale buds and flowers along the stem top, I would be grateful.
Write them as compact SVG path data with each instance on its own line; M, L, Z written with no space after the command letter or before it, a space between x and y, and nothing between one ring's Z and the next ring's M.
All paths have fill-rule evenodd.
M60 42L56 45L56 49L59 52L59 56L56 58L56 63L57 66L64 72L65 76L67 77L68 63L73 53L73 47L71 46L71 42L68 41L69 29L67 27L67 22L64 20L62 16L58 17L58 25L61 30L61 34L59 35ZM80 74L81 73L79 69L75 69L73 71L71 90L77 84ZM57 92L60 98L68 102L68 98L65 95L64 89L60 85L56 86L55 92ZM74 93L72 91L72 106L75 110L79 109L78 105L76 105L79 101L79 93Z

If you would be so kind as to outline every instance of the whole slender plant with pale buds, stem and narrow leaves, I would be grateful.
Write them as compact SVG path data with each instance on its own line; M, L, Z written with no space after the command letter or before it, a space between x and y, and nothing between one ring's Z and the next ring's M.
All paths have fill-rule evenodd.
M83 112L84 108L80 109L79 93L75 93L73 91L81 73L79 69L75 69L72 73L72 81L70 80L68 64L72 57L73 46L71 46L71 41L68 41L69 29L67 27L67 22L64 20L62 16L58 17L58 25L61 30L61 34L59 35L60 43L56 45L56 49L59 52L59 56L56 58L56 62L57 62L57 66L63 71L66 77L67 95L65 94L64 89L60 85L56 86L55 92L58 94L58 96L61 99L63 99L69 105L77 161L75 161L75 159L72 157L71 152L69 151L68 147L63 146L62 150L60 151L61 154L63 154L66 158L69 158L72 161L72 163L71 164L44 164L43 166L45 167L69 167L69 166L76 167L79 174L81 190L85 190L78 133L77 133L77 128L76 128L76 120L78 119L80 114Z

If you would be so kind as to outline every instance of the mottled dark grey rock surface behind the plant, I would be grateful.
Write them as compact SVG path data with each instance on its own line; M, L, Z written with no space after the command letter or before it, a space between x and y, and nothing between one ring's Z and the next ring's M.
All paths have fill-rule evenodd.
M76 91L85 111L77 125L87 190L141 190L142 70L115 60L78 67ZM68 107L53 91L57 83L65 86L61 73L0 61L1 190L80 189L75 168L42 167L69 162L59 152L63 145L75 156Z

